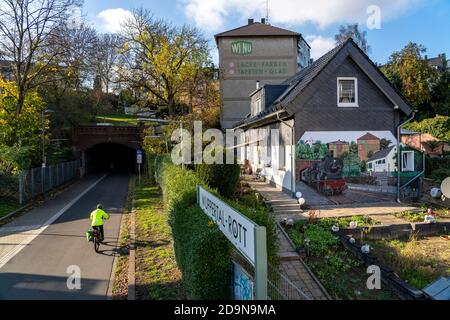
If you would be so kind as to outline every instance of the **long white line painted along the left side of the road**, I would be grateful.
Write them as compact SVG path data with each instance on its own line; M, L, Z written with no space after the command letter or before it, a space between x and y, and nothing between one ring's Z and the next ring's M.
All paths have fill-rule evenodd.
M0 269L3 268L5 264L8 263L15 255L17 255L23 248L29 245L39 234L41 234L49 225L56 221L60 216L64 214L70 207L72 207L78 200L80 200L85 194L91 191L100 181L102 181L108 174L105 174L100 179L91 184L86 190L80 193L76 198L74 198L71 202L69 202L64 208L59 210L55 215L53 215L50 219L48 219L44 224L40 226L39 229L36 230L35 233L26 237L20 244L13 247L10 251L8 251L3 257L0 257Z

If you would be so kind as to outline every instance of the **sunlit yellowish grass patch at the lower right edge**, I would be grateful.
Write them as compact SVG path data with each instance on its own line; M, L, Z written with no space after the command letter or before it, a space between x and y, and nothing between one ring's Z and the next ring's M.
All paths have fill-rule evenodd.
M379 240L371 245L383 264L417 289L450 276L450 241L440 236Z

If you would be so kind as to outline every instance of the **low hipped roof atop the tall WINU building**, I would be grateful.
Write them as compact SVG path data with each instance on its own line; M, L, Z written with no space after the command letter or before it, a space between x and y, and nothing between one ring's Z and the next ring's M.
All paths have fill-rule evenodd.
M267 36L281 36L281 37L298 37L299 33L274 27L268 24L253 22L251 24L228 30L222 33L218 33L214 36L214 38L223 38L223 37L267 37Z

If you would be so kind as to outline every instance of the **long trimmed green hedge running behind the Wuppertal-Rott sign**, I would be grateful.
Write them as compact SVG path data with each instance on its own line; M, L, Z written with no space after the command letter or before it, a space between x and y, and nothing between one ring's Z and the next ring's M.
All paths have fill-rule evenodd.
M231 298L231 244L197 205L196 186L206 186L195 171L182 169L170 157L157 157L157 182L161 186L164 206L174 239L177 264L189 299ZM267 230L269 263L278 264L276 224L262 204L224 200Z

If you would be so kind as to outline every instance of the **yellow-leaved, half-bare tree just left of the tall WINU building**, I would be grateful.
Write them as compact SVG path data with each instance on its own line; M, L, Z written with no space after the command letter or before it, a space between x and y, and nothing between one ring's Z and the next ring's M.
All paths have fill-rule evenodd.
M197 29L157 21L143 9L133 13L124 30L121 80L175 114L186 81L193 80L196 70L208 62L207 41Z

